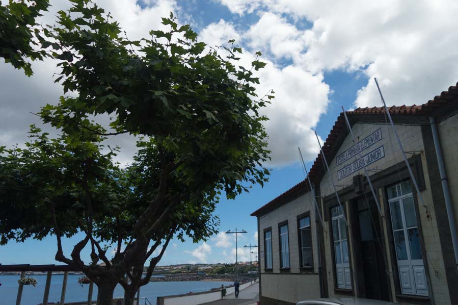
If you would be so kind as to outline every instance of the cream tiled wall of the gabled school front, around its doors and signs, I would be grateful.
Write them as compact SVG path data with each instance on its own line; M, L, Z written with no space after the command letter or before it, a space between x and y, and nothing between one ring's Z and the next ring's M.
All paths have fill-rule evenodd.
M456 124L455 124L456 126ZM384 147L384 153L385 157L379 159L378 161L370 164L367 166L367 168L370 171L370 175L374 174L375 172L378 172L380 170L386 169L390 166L393 166L399 162L403 161L402 155L401 155L401 150L399 148L399 145L397 143L397 139L391 129L391 126L388 124L368 124L368 123L357 123L353 125L353 132L355 136L359 137L359 140L362 140L366 136L372 134L376 130L381 130L382 132L382 140L374 143L372 146L366 148L365 150L362 151L362 155L365 155L372 151L373 149L383 146ZM442 252L441 252L441 246L440 246L440 241L439 241L439 236L438 236L438 229L437 229L437 219L436 219L436 213L433 205L433 197L432 197L432 192L431 192L431 187L430 187L430 181L429 181L429 175L428 175L428 169L426 165L426 158L424 154L424 144L423 144L423 138L422 138L422 132L421 132L421 126L416 126L416 125L396 125L396 130L398 132L399 138L402 142L403 148L405 151L412 151L415 155L420 155L421 161L422 161L422 167L423 167L423 173L424 173L424 180L425 180L425 186L426 189L421 192L421 195L423 197L423 200L425 201L425 204L427 206L427 209L422 206L418 206L417 209L419 211L420 215L420 223L419 225L421 226L422 232L423 232L423 241L425 245L425 251L427 252L427 258L425 261L427 263L425 265L428 266L428 271L429 271L429 281L432 284L433 291L429 291L431 296L434 296L434 299L437 303L440 304L450 304L450 299L448 298L448 285L446 281L446 276L445 276L445 268L442 260ZM346 151L348 148L352 147L353 141L350 135L346 137L346 139L343 141L340 149L338 150L338 153L336 156L339 156L339 154L343 153ZM457 146L458 147L458 146ZM458 151L458 150L455 150ZM412 154L409 154L408 157L411 157ZM346 160L340 165L337 165L336 158L333 160L328 160L329 166L330 166L330 172L332 174L332 179L336 185L338 185L337 189L340 190L342 188L352 186L353 185L353 176L356 174L362 174L364 175L364 169L361 168L359 171L355 171L352 174L349 174L348 176L344 177L343 179L338 179L338 171L342 169L344 166L346 166L349 163L352 163L353 161L356 161L358 159L358 156L353 157L352 159ZM376 193L380 195L379 201L383 201L383 197L381 196L382 192L385 190L380 188L376 190ZM329 179L328 179L328 173L326 173L324 179L321 180L320 183L320 192L322 196L328 196L332 195L334 193L334 190L332 188L332 184L330 184ZM343 205L345 205L346 210L349 210L348 202L342 202ZM383 205L383 203L382 203ZM429 217L426 211L429 212ZM329 211L322 211L323 213L329 213ZM386 215L389 217L389 215ZM385 218L386 221L386 218ZM351 223L351 219L349 221L349 224ZM328 222L325 224L326 227L329 227ZM352 233L352 227L350 226L348 228L349 233ZM389 232L389 229L386 225L386 223L383 223L383 230L385 237L387 234L391 234ZM352 243L352 235L349 234L349 242ZM345 296L343 294L340 294L338 291L334 290L335 284L335 278L333 274L333 262L332 262L332 256L331 256L331 243L332 243L332 237L329 234L325 234L325 255L326 255L326 267L327 267L327 278L328 278L328 289L329 289L329 296L330 297L339 297L339 296ZM388 239L386 239L386 243L388 244ZM355 253L353 253L353 247L350 247L350 255L351 255L351 268L352 268L352 275L353 275L353 291L355 295L358 295L358 290L357 290L357 285L356 285L356 274L353 266L356 265L355 262ZM389 262L388 266L390 266L390 263L393 259L390 256L390 251L387 251L387 260ZM391 267L390 267L391 271ZM398 274L393 274L393 272L389 272L389 278L390 278L390 285L391 285L391 291L392 291L392 299L396 300L396 295L395 295L395 289L394 289L394 278L393 276L398 276ZM440 300L440 302L438 302ZM402 302L401 302L402 303ZM406 302L406 304L409 302Z

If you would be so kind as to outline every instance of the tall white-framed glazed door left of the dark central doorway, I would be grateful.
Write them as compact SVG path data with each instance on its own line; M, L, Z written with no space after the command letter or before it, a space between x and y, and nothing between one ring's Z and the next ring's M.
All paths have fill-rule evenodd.
M337 206L337 207L331 208L331 226L333 230L332 248L334 251L334 263L335 263L335 270L336 270L337 288L351 290L352 289L352 276L351 276L351 270L350 270L350 256L348 253L349 252L348 232L346 230L344 217L345 215L342 209L340 209L340 207ZM334 226L334 223L337 223L337 230L335 230L336 228ZM342 226L345 230L346 238L342 238L342 232L341 232ZM338 239L335 239L334 235L337 235ZM346 253L345 253L344 247L342 246L343 243L346 243ZM340 256L340 263L337 260L338 255Z

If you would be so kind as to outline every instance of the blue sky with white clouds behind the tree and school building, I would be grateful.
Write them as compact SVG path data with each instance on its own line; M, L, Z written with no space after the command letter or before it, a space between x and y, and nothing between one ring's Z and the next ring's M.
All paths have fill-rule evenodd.
M341 106L380 106L373 77L379 77L390 105L425 103L458 80L456 2L96 2L111 11L133 39L160 28L160 17L172 11L179 23L190 23L209 45L236 39L244 49L241 61L245 64L258 50L263 53L267 66L258 75L258 94L268 89L277 92L273 104L264 110L270 117L265 124L272 150L272 162L266 164L272 168L270 181L235 200L222 200L215 211L221 219L220 231L237 227L248 232L239 239L239 260L249 260L249 251L242 248L245 244L257 243L257 223L250 213L304 179L297 147L310 167L318 153L313 131L326 139ZM51 0L51 4L44 22L52 22L59 9L68 7L63 0ZM445 11L444 6L448 7ZM0 64L0 144L22 145L28 125L37 123L29 112L56 101L62 88L52 83L52 73L57 71L53 62L34 63L35 75L30 79ZM123 148L118 161L129 163L134 140L118 137L111 141ZM66 240L64 248L71 251L81 238ZM220 234L199 244L173 240L160 264L234 262L234 252L233 235ZM0 263L51 264L56 263L55 253L53 237L11 242L0 247Z

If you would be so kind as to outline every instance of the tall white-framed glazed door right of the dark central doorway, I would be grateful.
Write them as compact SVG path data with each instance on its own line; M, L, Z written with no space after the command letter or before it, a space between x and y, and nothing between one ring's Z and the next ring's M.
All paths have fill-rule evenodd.
M405 182L406 183L406 182ZM409 183L409 182L408 182ZM391 214L391 228L393 232L393 247L396 253L396 261L397 261L397 268L398 268L398 276L399 276L399 286L401 289L402 294L410 294L410 295L419 295L419 296L428 296L428 287L426 283L426 271L424 267L423 259L412 259L412 253L409 243L409 236L408 230L417 229L418 231L418 222L419 219L417 218L415 212L415 200L413 198L412 192L405 193L406 190L402 190L403 183L396 184L392 187L396 188L396 197L392 197L388 199L388 205L390 207L390 214ZM406 186L406 184L404 184ZM416 220L416 225L407 226L406 221L406 211L405 211L405 202L407 199L412 198L414 204L414 217ZM402 228L395 228L394 222L394 211L393 205L399 206L401 221L402 221ZM402 232L404 237L404 244L407 252L407 260L398 260L398 248L396 247L396 232ZM421 244L420 244L420 251Z

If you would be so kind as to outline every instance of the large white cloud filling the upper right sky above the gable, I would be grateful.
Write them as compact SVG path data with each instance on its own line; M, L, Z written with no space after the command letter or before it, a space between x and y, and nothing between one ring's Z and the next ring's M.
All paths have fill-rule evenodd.
M252 27L253 31L260 29L257 34L262 34L261 25L284 30L272 38L253 36L251 45L285 42L291 45L291 52L282 52L282 46L274 43L272 53L291 57L313 74L335 69L362 71L368 81L358 91L356 107L381 105L374 77L379 78L390 105L425 103L458 80L458 19L454 17L458 3L451 0L220 2L237 14L262 8L258 24ZM265 22L267 19L276 26ZM295 28L294 22L301 19L311 22L311 28ZM303 42L302 51L296 47L298 42Z

